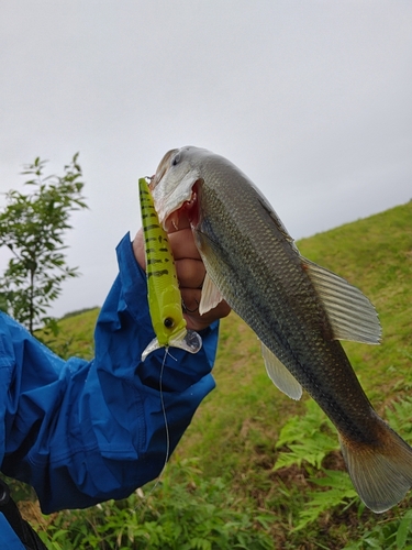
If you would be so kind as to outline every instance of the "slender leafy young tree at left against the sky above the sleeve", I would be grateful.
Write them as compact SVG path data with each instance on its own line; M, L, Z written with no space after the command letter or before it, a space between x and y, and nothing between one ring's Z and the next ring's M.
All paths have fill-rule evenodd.
M0 308L25 324L30 332L40 323L49 323L46 310L62 293L62 283L79 275L66 264L64 234L71 229L74 210L87 208L82 196L78 153L64 175L43 176L46 161L38 157L24 166L32 193L10 190L0 211L0 246L12 252L0 276ZM5 307L4 307L5 306Z

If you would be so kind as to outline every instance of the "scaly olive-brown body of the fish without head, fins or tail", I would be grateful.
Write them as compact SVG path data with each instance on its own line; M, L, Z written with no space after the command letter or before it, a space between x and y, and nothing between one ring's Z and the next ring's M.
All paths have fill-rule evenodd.
M292 240L237 168L212 160L204 163L204 174L197 238L208 273L339 431L354 437L360 426L357 437L365 440L370 436L370 404L342 345L333 340Z

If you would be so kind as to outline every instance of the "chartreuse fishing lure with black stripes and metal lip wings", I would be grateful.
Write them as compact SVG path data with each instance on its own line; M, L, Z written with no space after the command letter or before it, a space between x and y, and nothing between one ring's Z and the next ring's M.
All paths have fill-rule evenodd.
M138 179L141 216L145 243L147 301L155 338L142 353L142 361L160 348L180 348L198 353L202 338L187 330L175 260L166 231L159 223L145 178Z

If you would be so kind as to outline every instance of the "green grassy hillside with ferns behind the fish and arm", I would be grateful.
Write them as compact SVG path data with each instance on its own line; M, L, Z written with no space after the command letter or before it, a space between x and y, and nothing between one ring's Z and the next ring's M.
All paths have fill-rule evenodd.
M379 414L407 441L411 441L412 433L411 219L409 202L298 243L307 257L348 278L377 306L383 327L382 344L344 345ZM59 334L57 343L68 342L67 354L92 356L97 311L92 314L59 321L64 337ZM215 522L208 516L209 510L216 514L218 529L222 529L222 519L232 524L230 542L222 548L242 543L249 548L265 548L267 543L271 548L272 540L274 548L285 550L412 550L412 497L407 495L401 505L382 515L354 502L348 476L341 471L344 466L335 429L323 413L313 402L296 403L277 392L265 373L255 334L236 316L222 320L220 333L213 371L218 388L202 403L162 482L155 488L144 487L143 496L136 493L122 503L51 516L43 534L47 546L53 550L119 550L122 546L133 549L133 544L144 549L152 548L152 540L157 540L158 547L164 540L165 548L179 548L179 543L207 548L209 532L201 534L196 522L180 525L182 534L189 529L189 538L181 535L176 542L176 522L191 524L191 514L199 512L196 517L203 518L210 528ZM398 403L385 410L394 397ZM299 416L289 424L293 415ZM291 449L294 458L289 454ZM199 457L199 461L175 464L177 455ZM278 470L274 472L277 459ZM174 488L169 490L168 484ZM331 499L330 491L335 491ZM338 504L345 494L346 499ZM136 521L130 528L133 510ZM302 514L304 510L309 516ZM177 521L172 519L176 517ZM146 535L141 532L132 543L127 532L137 530L137 520ZM304 527L297 530L303 522ZM74 542L76 534L78 547ZM90 543L85 536L90 537ZM143 542L140 536L146 537Z

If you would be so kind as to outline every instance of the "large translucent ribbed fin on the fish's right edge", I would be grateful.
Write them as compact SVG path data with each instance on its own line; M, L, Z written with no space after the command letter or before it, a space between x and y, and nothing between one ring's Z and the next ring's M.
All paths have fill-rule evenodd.
M381 327L375 307L355 286L335 273L302 258L322 300L336 340L380 343Z

